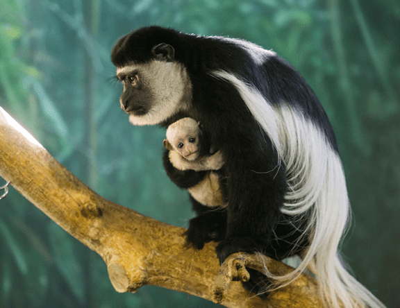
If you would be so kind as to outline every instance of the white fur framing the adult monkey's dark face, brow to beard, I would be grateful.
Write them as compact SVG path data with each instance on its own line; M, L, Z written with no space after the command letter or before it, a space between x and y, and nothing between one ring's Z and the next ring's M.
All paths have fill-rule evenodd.
M146 114L129 115L133 125L156 125L181 110L192 101L192 84L185 67L176 62L152 60L144 64L131 64L117 69L117 74L138 71L143 86L151 93L152 101Z

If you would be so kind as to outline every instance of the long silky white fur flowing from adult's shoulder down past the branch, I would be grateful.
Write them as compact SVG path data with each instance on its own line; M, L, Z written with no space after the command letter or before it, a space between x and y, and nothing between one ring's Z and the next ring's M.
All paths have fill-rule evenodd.
M288 275L270 276L285 285L312 268L326 307L385 307L347 272L338 253L351 212L342 163L324 132L300 110L285 103L273 107L258 90L232 74L216 71L213 75L238 89L285 162L290 190L281 212L293 219L307 213L308 224L303 231L304 236L308 234L310 247L301 263Z

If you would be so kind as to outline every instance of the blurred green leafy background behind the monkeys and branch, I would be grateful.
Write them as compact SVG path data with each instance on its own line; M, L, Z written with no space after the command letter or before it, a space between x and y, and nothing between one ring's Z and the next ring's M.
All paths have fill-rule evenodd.
M308 80L347 175L354 219L345 259L399 308L400 2L1 0L0 105L101 196L187 226L188 196L163 171L165 131L131 126L110 81L113 44L150 24L244 38ZM98 255L11 189L0 201L0 307L217 305L153 286L117 293Z

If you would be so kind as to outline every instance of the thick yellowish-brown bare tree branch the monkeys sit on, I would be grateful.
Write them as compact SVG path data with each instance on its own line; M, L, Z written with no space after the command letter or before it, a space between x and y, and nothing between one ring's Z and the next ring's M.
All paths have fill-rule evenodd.
M249 294L240 282L231 282L235 275L245 276L242 270L233 273L238 271L235 262L253 263L251 267L257 269L259 259L238 254L228 258L219 271L215 243L206 244L202 250L185 247L184 228L102 198L16 127L0 108L0 176L10 180L61 228L101 255L118 292L135 292L149 284L214 299L226 307L322 307L315 282L307 276L272 291L265 301ZM290 271L267 257L263 262L272 273Z

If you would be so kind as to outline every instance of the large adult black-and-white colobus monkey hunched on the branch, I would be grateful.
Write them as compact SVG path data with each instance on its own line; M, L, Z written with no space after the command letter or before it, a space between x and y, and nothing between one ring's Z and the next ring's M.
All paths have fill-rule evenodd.
M384 307L340 260L349 200L338 146L322 105L293 67L244 40L157 26L119 39L111 58L133 125L191 117L222 151L228 205L219 212L226 221L220 262L238 251L274 256L274 243L286 241L276 230L289 218L301 236L288 248L307 242L302 262L288 275L269 277L288 282L312 268L328 307ZM215 213L201 212L188 233L212 240L206 221Z

